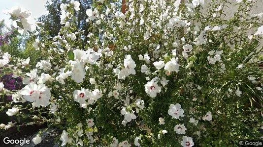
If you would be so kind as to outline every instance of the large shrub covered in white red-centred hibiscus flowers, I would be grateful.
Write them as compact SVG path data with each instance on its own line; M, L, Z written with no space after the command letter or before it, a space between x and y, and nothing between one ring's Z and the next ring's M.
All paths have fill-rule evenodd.
M263 13L251 14L255 0L212 0L207 14L204 0L127 0L125 14L109 1L86 11L85 47L74 23L78 1L61 4L63 26L53 39L41 23L34 30L28 11L8 12L21 33L40 32L33 47L42 58L32 66L3 54L3 72L26 86L1 83L13 99L2 111L61 128L61 146L230 146L260 137Z

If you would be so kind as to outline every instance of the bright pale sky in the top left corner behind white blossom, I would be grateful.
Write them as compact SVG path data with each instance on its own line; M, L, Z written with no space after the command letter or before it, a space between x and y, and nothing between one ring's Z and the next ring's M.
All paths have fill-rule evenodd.
M3 10L10 9L13 6L21 6L32 12L33 18L47 14L45 4L47 0L0 0L0 20L4 19L6 25L12 24L9 16L3 13Z

